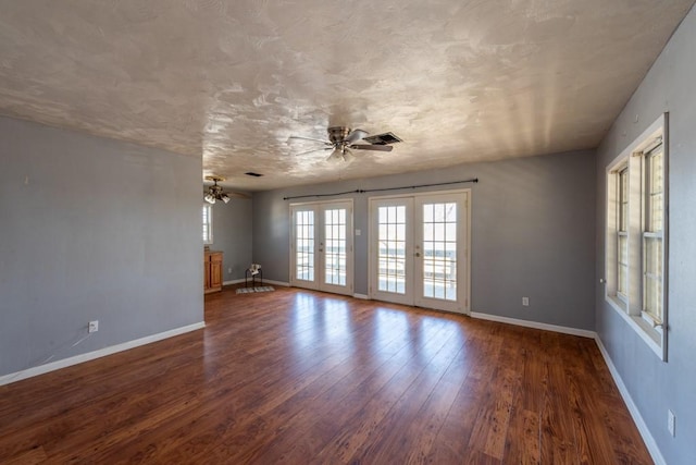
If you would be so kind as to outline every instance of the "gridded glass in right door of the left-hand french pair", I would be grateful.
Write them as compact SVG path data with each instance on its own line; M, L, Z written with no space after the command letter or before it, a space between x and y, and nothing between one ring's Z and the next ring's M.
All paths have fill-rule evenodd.
M346 285L346 209L324 212L324 283Z

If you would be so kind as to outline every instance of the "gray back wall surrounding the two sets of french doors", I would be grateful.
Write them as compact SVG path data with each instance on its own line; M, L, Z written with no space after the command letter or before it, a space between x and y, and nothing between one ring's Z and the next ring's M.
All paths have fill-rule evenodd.
M472 188L472 310L594 330L593 151L258 193L253 196L253 259L263 266L265 278L289 281L289 201L283 200L285 196L470 178L480 182L402 193ZM377 195L343 196L353 198L355 228L363 232L355 238L358 294L368 294L368 198ZM522 296L530 297L530 307L522 307Z

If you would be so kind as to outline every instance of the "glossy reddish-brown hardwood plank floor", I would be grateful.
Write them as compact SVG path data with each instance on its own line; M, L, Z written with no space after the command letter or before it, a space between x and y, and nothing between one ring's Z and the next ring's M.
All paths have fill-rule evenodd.
M593 340L293 289L0 387L0 463L647 464Z

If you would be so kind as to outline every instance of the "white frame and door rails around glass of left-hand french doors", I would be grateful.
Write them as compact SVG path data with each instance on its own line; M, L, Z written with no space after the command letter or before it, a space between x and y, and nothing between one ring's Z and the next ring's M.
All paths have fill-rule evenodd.
M326 241L325 241L325 213L332 207L346 208L346 285L327 284L325 281L325 264L326 264ZM290 204L290 285L296 287L313 289L323 292L332 292L335 294L353 294L353 201L349 199L307 201L300 204ZM313 211L314 215L314 280L298 280L296 278L296 212Z

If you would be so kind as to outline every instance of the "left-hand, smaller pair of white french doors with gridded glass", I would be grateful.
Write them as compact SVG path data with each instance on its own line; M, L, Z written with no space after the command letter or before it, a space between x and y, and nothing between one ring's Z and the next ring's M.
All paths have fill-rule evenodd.
M290 206L290 285L352 295L352 200Z

